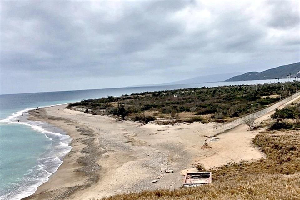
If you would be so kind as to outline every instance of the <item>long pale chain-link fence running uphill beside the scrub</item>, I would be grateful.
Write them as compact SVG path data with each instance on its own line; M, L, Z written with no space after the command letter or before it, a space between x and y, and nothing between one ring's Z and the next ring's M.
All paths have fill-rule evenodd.
M215 125L215 126L213 126L213 133L214 133L214 135L216 135L218 133L223 133L224 131L227 131L229 129L232 129L232 128L244 123L245 120L247 120L247 119L259 118L259 117L275 110L276 108L280 107L281 105L287 103L288 101L292 100L293 98L296 98L299 95L300 95L300 92L294 93L293 95L288 96L287 98L284 98L281 101L279 101L277 103L274 103L271 106L268 106L267 108L256 111L255 113L248 114L244 117L238 118L238 119L233 120L233 121L228 122L228 123L222 123L222 124L219 124L219 125Z

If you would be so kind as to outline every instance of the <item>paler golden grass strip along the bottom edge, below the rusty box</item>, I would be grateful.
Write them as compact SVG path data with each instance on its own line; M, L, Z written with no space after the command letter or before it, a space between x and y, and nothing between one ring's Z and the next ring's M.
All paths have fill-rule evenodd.
M298 200L300 175L250 175L242 180L216 181L211 185L180 190L120 194L103 200Z

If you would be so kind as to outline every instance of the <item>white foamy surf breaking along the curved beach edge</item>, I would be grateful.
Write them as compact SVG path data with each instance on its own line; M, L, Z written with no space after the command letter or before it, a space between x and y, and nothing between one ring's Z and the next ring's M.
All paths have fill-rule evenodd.
M57 104L63 105L63 104ZM51 105L56 106L56 105ZM51 107L46 106L46 107ZM42 108L42 107L39 107ZM43 107L44 108L44 107ZM69 145L71 137L53 131L46 130L43 126L49 126L46 122L39 122L38 125L34 121L19 121L18 117L26 114L28 111L36 108L26 108L24 110L13 113L5 119L0 120L2 123L16 123L24 126L30 126L33 130L43 133L46 138L52 141L51 147L43 155L37 159L36 165L24 174L21 180L12 185L9 191L0 191L0 200L20 200L28 197L37 191L37 187L49 180L49 177L55 173L59 166L63 163L63 157L72 149Z

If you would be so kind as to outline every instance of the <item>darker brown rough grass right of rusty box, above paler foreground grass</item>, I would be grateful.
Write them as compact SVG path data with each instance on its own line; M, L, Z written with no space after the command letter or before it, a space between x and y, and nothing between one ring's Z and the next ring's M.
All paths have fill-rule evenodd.
M293 174L300 172L300 133L272 132L258 134L253 143L267 155L256 162L228 163L212 169L213 178L240 179L248 174Z

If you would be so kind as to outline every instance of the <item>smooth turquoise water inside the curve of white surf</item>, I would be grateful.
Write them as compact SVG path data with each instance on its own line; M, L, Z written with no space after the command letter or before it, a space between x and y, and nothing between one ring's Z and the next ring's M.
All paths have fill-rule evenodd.
M1 125L0 127L1 198L14 199L13 195L8 194L13 194L17 190L19 190L19 193L25 193L28 189L26 188L27 184L30 184L29 187L31 187L33 182L38 181L29 181L30 177L24 175L29 175L28 173L37 168L37 159L50 148L51 141L43 134L33 131L29 126L10 124L7 126Z

